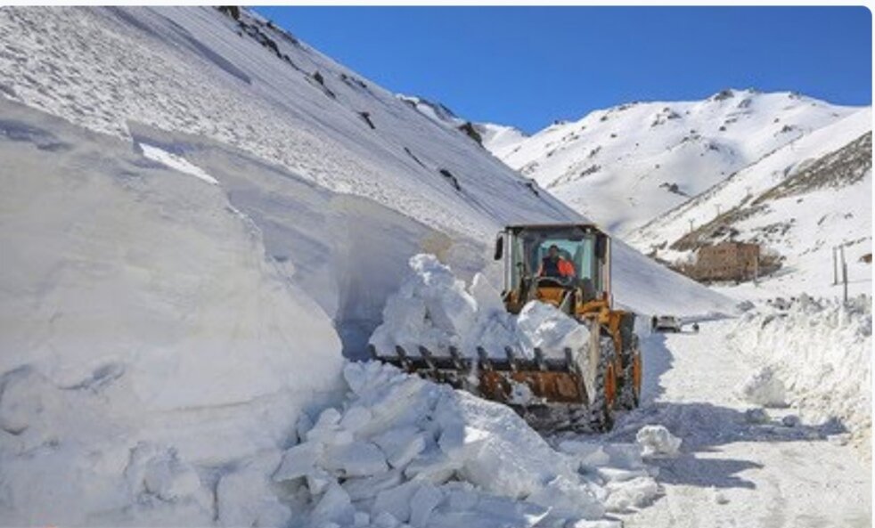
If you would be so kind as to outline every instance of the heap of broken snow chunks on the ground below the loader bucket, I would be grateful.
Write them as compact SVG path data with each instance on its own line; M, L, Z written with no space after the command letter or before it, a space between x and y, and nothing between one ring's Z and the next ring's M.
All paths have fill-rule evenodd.
M308 525L584 526L656 487L634 446L569 455L501 404L375 361L344 377L347 401L303 419L273 474Z

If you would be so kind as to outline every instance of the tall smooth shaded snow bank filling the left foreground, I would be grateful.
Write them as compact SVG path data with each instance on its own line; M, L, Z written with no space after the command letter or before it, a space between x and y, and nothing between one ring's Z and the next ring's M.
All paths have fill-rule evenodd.
M217 185L0 110L0 519L211 524L339 386L331 321Z

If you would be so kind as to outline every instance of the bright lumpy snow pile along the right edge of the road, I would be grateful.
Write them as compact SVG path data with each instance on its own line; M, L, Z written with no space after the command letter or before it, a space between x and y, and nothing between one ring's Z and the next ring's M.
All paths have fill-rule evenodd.
M749 392L771 397L780 382L804 418L838 418L855 433L869 429L871 296L848 304L802 296L786 310L745 314L731 337L765 369Z

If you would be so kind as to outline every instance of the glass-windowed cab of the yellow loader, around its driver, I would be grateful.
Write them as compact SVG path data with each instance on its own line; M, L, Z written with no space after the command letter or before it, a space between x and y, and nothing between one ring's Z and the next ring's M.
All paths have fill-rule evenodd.
M539 273L552 246L572 264L572 274ZM509 226L496 239L495 259L504 262L503 298L511 313L533 299L572 315L593 301L609 304L609 237L592 224Z

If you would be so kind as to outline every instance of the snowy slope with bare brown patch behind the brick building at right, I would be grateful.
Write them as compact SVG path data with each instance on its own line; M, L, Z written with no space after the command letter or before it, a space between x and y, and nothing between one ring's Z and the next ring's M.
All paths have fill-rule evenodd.
M841 295L832 259L842 246L850 294L871 294L871 128L871 109L858 110L659 215L628 240L673 263L689 261L703 245L756 242L781 269L763 288L743 288L744 296Z

